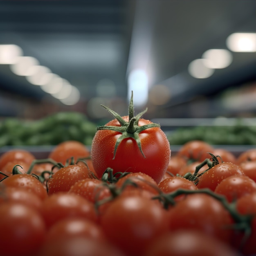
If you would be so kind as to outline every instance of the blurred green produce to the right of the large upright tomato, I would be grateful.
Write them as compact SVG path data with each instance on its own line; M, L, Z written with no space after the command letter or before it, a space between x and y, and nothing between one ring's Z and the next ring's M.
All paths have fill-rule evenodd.
M212 145L255 145L256 126L196 126L177 128L167 134L171 145L202 140Z

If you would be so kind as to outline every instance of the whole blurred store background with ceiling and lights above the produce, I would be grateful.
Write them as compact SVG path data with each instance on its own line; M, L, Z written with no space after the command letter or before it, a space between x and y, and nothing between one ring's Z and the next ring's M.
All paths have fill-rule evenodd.
M0 1L0 120L103 124L100 104L126 115L132 90L166 131L256 126L256 2Z

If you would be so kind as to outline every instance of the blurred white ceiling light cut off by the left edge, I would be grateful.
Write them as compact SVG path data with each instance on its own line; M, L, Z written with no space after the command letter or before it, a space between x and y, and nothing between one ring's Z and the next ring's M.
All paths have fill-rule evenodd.
M14 64L22 54L18 45L0 45L0 64Z

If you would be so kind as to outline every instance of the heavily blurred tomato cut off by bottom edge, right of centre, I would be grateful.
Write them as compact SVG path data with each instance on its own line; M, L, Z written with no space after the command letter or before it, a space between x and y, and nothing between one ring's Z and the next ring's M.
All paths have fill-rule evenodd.
M143 256L239 256L220 240L194 230L164 234L148 246Z

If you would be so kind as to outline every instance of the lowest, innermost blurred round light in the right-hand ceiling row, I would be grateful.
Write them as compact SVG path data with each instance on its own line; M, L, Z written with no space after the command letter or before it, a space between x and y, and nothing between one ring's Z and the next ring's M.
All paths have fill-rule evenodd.
M188 67L189 74L199 79L210 77L214 73L214 69L207 67L206 62L207 60L202 58L191 61Z

